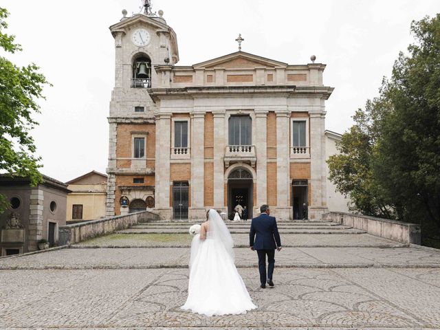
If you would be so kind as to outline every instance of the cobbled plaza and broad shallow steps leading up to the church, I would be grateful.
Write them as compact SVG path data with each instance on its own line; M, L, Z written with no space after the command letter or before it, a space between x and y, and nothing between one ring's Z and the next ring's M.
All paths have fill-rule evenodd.
M0 259L0 329L440 329L439 250L331 223L280 222L275 287L261 289L256 253L245 247L250 223L228 225L258 305L248 314L181 311L189 224L148 223Z

